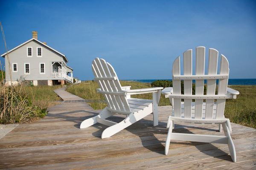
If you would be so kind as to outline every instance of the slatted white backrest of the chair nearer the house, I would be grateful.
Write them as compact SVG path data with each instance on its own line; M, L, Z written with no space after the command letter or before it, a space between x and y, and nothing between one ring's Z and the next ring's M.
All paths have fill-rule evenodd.
M104 59L96 58L93 60L92 69L101 89L99 92L104 95L108 108L116 113L130 113L128 101L113 67Z

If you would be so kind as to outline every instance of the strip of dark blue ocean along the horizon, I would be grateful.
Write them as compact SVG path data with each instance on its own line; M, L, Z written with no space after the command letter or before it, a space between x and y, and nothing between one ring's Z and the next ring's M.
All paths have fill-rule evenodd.
M125 81L134 81L134 82L154 82L156 80L169 80L172 81L172 79L129 79ZM195 80L193 80L193 83L195 83ZM207 81L205 80L205 83ZM218 83L218 80L217 80ZM228 85L256 85L256 79L228 79Z

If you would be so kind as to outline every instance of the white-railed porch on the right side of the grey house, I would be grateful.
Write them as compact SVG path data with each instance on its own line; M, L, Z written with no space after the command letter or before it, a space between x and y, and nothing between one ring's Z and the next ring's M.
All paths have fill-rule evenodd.
M68 67L64 62L52 62L52 78L64 79L73 83L73 69Z

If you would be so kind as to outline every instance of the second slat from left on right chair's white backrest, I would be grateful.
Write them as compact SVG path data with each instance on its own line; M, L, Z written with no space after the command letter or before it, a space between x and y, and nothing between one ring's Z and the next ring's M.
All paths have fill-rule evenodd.
M183 53L184 75L192 75L192 49ZM192 80L184 80L184 94L192 95ZM191 118L192 100L184 99L184 117Z

